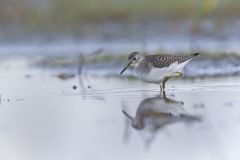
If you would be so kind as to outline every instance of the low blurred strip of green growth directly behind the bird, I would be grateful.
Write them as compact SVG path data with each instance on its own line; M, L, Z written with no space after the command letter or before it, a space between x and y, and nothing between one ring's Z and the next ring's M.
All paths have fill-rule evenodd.
M186 53L187 54L187 53ZM190 54L190 53L188 53ZM77 56L79 57L79 56ZM108 66L109 64L113 67L119 67L119 65L123 65L127 63L128 54L123 53L119 55L113 54L100 54L96 56L84 56L85 63L84 66ZM201 52L198 56L198 60L223 60L227 58L233 58L235 60L240 61L239 53L208 53ZM37 66L46 66L50 68L65 68L65 67L74 67L77 68L79 65L80 59L76 58L76 56L54 56L52 58L46 57L36 62Z

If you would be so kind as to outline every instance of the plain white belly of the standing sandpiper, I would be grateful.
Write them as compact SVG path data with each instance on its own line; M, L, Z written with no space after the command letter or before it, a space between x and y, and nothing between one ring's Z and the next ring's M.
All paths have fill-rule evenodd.
M152 68L151 72L148 74L144 73L137 73L138 77L142 79L143 81L150 82L150 83L160 83L163 81L164 77L166 76L174 76L176 75L176 72L183 72L184 66L189 62L190 60L178 64L173 63L169 67L164 68Z

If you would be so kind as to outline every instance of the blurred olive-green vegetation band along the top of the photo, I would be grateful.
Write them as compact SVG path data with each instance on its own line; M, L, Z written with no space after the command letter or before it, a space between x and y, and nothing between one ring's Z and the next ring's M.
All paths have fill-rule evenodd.
M29 29L74 28L83 23L144 19L239 17L239 0L8 0L0 1L0 22Z

